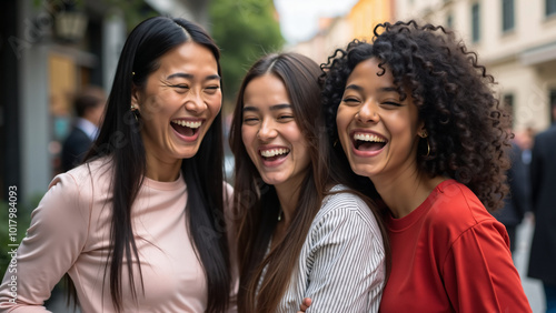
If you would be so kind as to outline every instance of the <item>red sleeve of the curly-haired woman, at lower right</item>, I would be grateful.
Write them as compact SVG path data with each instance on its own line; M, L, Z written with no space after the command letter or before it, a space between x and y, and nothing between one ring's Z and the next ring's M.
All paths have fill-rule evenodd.
M454 242L441 275L457 312L532 312L508 242L504 225L494 220Z

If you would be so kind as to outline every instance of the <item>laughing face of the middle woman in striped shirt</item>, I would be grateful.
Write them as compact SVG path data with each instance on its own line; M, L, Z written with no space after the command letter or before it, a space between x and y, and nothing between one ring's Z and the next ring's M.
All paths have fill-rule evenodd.
M309 151L282 81L272 74L251 80L244 103L241 139L260 176L277 189L296 189L309 166Z

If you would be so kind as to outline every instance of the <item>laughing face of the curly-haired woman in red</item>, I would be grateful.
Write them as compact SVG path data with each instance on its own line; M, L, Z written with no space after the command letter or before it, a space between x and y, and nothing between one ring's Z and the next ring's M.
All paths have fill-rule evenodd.
M391 72L377 75L381 71L375 58L357 64L336 115L351 169L375 184L417 170L418 133L423 132L410 97L400 101Z

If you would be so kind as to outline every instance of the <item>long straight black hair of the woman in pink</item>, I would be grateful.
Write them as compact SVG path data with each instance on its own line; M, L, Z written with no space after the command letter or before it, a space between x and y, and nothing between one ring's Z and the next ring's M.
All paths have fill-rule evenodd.
M122 260L139 260L131 223L131 206L146 173L146 151L140 135L141 118L136 119L131 107L132 88L142 88L159 67L159 59L185 42L208 48L220 74L220 52L214 40L199 26L183 19L150 18L129 34L118 62L106 117L99 137L86 156L86 162L109 155L113 164L112 219L107 259L110 293L115 309L122 310ZM188 230L197 258L202 263L208 285L207 312L224 312L230 294L229 248L224 221L222 125L217 114L197 154L185 159L181 172L188 188L186 208ZM186 225L183 225L186 226ZM138 262L139 263L139 262ZM109 264L109 265L108 265ZM183 264L185 266L187 264ZM127 263L131 293L137 299L131 262ZM142 274L139 266L139 276Z

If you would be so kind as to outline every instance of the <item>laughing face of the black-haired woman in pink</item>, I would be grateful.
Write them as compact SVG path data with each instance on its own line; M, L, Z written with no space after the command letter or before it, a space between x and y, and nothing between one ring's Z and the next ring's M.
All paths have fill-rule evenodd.
M159 65L131 100L143 122L148 166L192 158L222 100L217 61L203 46L182 43L163 54Z

